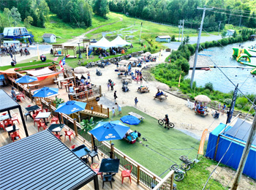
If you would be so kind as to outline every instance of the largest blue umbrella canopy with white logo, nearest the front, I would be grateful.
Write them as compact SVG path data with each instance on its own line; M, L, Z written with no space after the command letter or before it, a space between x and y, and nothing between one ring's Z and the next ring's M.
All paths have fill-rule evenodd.
M128 130L129 126L124 125L121 121L110 121L99 122L90 133L99 141L121 140Z

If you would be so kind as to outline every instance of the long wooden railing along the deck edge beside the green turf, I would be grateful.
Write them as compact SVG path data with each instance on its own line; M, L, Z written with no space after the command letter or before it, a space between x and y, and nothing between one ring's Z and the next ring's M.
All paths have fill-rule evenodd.
M10 81L12 81L14 86L19 86L18 83L15 83L15 80L13 81L12 78L9 78ZM29 91L24 86L19 86L22 88L22 91L29 92L25 95L30 98L30 96L33 96L33 92ZM53 106L50 102L48 102L46 99L40 99L40 103L44 105L45 107L48 107L50 112L54 112L56 110L56 107ZM67 123L67 127L71 129L69 126L72 126L73 131L75 131L75 135L79 137L83 142L91 143L93 145L93 142L91 140L91 134L87 133L83 137L78 134L78 129L80 129L82 126L78 123L78 121L75 118L69 117L69 115L61 114L61 121L64 123ZM102 155L107 155L110 152L110 144L108 142L99 142L98 140L94 140L95 145L98 147L99 153L102 153ZM124 168L124 165L131 164L132 165L132 176L137 180L137 183L140 183L141 186L145 186L146 189L156 189L157 186L168 187L172 186L173 180L170 181L170 176L173 178L173 173L169 173L167 177L164 179L160 178L158 175L154 174L154 172L151 172L146 167L143 167L143 165L139 164L137 161L133 160L123 152L119 151L117 148L115 148L114 156L117 159L120 159L120 167ZM160 185L159 185L160 184Z

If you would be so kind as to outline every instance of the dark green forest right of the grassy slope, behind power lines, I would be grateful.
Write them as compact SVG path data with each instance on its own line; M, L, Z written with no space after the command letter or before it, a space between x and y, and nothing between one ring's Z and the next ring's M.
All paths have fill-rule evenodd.
M216 11L214 9L214 12L206 11L203 27L208 31L217 31L219 26L222 30L226 23L239 25L240 17L235 15L254 17L242 17L241 24L250 28L256 27L256 1L250 0L110 0L109 7L113 12L123 12L135 18L160 23L178 25L178 21L184 19L184 26L198 28L203 11L197 7L203 7L205 4L223 8Z

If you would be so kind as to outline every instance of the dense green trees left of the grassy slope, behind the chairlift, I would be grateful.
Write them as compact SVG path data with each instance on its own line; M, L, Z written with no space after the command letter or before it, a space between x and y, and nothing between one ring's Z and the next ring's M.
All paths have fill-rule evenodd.
M0 31L4 27L25 26L45 28L51 12L74 27L91 26L94 14L107 18L108 0L0 0Z

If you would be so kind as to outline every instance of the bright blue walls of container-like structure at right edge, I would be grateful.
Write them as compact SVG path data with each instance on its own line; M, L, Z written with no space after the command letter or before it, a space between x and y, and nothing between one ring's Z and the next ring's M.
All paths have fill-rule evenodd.
M214 129L213 132L210 133L209 139L208 139L208 145L207 145L207 150L206 150L206 156L214 159L214 153L216 150L216 145L217 145L217 139L218 135L222 130L225 128L225 124L220 123L219 126L217 126L216 129ZM232 129L231 126L229 126L226 129L226 132ZM236 139L238 140L238 139ZM216 155L216 161L219 161L222 156L225 154L227 151L227 148L230 145L230 142L232 140L227 139L226 137L219 137L219 145L217 149L217 155ZM238 140L240 142L244 142L243 140ZM230 145L229 150L223 157L221 163L225 164L229 167L233 167L234 169L238 168L238 164L240 162L242 153L244 151L244 145L239 142L232 142ZM249 177L256 179L256 149L251 148L249 151L249 155L246 160L246 164L244 166L244 174L249 175Z

